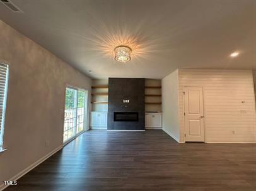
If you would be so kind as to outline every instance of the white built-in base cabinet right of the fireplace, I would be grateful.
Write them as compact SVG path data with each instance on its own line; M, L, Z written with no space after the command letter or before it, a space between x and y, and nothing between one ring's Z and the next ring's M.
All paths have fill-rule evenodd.
M161 112L146 112L145 113L145 128L146 129L161 129L162 128Z

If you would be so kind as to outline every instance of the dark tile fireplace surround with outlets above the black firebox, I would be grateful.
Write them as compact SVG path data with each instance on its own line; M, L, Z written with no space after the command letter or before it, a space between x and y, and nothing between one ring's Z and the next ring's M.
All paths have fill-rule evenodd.
M108 79L108 130L144 130L144 79Z

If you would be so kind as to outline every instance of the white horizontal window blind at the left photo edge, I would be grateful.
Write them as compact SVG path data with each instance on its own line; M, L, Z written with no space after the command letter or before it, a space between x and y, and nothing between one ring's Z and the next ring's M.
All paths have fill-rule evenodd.
M0 63L0 150L3 147L4 116L5 116L5 109L6 109L8 70L9 70L8 65L4 63Z

